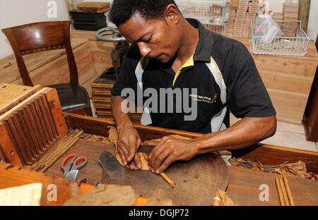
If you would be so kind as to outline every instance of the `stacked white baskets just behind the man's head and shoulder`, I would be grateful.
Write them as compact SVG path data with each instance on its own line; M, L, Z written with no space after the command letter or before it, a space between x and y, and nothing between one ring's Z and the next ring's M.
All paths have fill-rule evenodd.
M177 1L184 18L195 18L204 25L225 25L230 12L229 0Z

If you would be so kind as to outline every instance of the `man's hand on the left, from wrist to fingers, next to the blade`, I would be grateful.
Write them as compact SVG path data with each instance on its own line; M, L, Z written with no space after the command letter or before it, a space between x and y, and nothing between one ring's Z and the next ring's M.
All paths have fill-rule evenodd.
M134 126L127 124L118 129L117 150L124 166L129 165L131 170L141 169L140 145L141 138Z

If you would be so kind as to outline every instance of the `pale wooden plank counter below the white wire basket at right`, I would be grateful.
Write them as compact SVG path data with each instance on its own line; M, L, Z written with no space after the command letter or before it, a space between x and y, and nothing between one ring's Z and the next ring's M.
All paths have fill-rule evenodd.
M236 39L249 49L247 38ZM318 63L313 42L308 44L305 56L251 54L276 109L278 121L302 123Z

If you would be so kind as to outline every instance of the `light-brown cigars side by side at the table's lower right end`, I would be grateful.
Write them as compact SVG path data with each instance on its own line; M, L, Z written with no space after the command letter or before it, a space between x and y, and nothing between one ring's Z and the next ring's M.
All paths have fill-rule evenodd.
M283 176L283 178L276 176L275 181L281 206L294 206L295 204L290 192L287 178L285 176Z

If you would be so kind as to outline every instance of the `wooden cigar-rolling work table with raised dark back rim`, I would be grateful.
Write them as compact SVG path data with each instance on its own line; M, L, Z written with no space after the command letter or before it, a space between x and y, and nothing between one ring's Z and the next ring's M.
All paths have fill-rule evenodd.
M79 116L76 114L64 114L70 129L80 128L85 133L94 135L104 135L108 137L109 126L114 126L114 122L105 118L92 118ZM150 126L135 126L141 134L142 140L162 137L163 135L184 135L196 138L201 134L187 133L177 130L155 128ZM20 169L18 166L11 167L9 164L0 163L0 188L23 185L28 183L43 183L42 205L60 205L69 198L84 193L94 187L95 183L102 180L103 170L98 164L98 155L104 149L109 149L114 145L94 142L91 140L79 140L60 159L58 159L47 172L38 173ZM87 183L76 183L62 178L60 169L61 160L66 154L76 153L88 158L88 164L79 172L78 180L87 178ZM259 159L262 164L281 164L285 161L295 162L298 160L307 163L307 170L317 173L318 153L305 150L290 149L272 145L254 145L238 152L232 152L235 157L245 159ZM134 172L134 171L131 171ZM137 171L136 171L137 172ZM238 205L279 205L278 193L276 190L275 176L271 173L245 169L242 167L228 166L229 181L226 192L228 196ZM153 174L154 175L154 174ZM317 205L318 204L318 182L309 181L293 176L287 176L290 189L296 205ZM5 180L5 181L4 181ZM57 185L59 191L57 202L47 202L46 196L49 190L47 186L51 183ZM260 185L269 186L269 201L261 202L259 194ZM213 202L214 195L206 195Z

